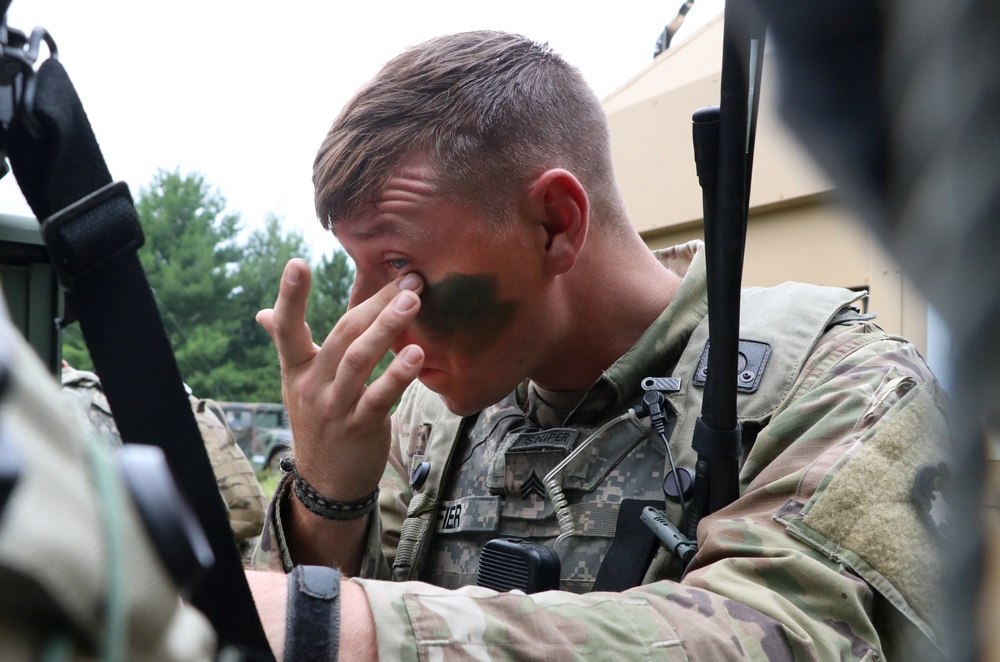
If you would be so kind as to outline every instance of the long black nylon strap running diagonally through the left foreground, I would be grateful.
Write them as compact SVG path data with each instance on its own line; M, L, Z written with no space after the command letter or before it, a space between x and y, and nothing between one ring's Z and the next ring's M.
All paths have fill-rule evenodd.
M48 219L111 184L111 174L62 65L49 59L36 76L33 115L41 134L33 136L14 122L8 155L28 204L38 218ZM127 197L111 195L96 207L65 215L43 226L43 234L53 239L50 255L59 264L67 306L79 318L122 439L163 449L209 538L215 566L191 602L212 622L220 644L269 652L208 454L136 254L141 229Z

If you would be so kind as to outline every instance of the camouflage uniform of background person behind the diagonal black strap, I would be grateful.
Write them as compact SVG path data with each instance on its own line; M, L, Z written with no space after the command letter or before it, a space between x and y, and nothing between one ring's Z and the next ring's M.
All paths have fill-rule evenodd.
M109 446L121 446L121 435L97 375L86 370L64 367L62 382L63 391L75 396L72 398L74 403L82 405L83 413L97 436ZM242 554L249 555L264 526L267 497L246 455L236 445L233 433L223 423L225 416L218 411L218 405L211 400L200 400L194 396L189 396L189 399L212 463L219 492L229 512L229 523L233 527L236 544ZM215 412L211 411L213 408Z

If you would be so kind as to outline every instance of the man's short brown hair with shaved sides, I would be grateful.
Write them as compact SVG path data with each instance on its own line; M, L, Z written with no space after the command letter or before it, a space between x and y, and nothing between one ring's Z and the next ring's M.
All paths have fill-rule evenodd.
M592 222L623 209L607 116L547 44L495 31L431 39L390 60L344 107L313 165L326 228L356 216L403 157L427 154L435 194L497 224L545 170L583 184Z

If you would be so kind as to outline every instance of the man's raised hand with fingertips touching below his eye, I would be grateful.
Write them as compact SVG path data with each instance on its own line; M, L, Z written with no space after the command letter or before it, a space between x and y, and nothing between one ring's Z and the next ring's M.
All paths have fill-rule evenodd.
M407 274L385 285L352 307L322 346L313 342L305 321L310 285L306 263L291 260L274 309L262 310L257 321L278 348L299 474L327 499L354 501L378 485L389 450L389 411L423 365L420 347L402 347L386 371L366 385L379 359L420 310L423 281ZM302 507L292 502L296 510ZM330 524L358 528L355 522Z

